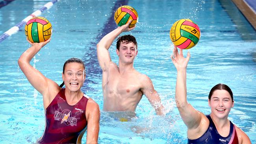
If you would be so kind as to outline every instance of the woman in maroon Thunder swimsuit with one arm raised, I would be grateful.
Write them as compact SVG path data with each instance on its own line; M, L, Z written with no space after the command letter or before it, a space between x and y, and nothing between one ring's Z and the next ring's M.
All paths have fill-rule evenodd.
M31 43L19 58L19 66L31 85L43 95L46 127L38 141L41 144L81 143L87 129L86 143L97 144L100 110L98 104L83 94L85 81L83 61L72 58L63 66L65 89L46 78L30 65L31 59L50 41Z

